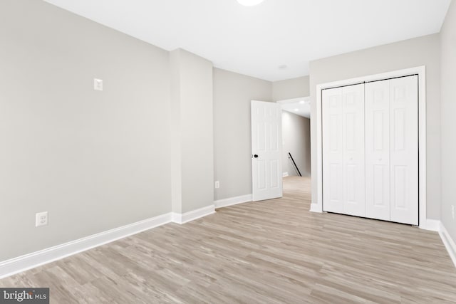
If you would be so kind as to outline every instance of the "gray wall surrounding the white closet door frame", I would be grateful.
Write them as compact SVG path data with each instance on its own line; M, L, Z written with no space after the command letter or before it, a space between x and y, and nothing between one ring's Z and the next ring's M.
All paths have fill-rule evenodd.
M439 34L376 46L311 61L311 115L316 115L316 85L426 66L427 218L440 219L440 36ZM316 197L316 120L311 120L312 201Z

